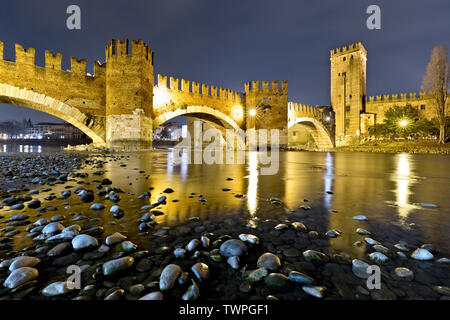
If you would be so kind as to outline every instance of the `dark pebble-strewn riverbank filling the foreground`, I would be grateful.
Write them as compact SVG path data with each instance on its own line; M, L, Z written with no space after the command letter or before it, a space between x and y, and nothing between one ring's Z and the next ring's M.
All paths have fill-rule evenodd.
M213 191L193 193L198 187L184 190L184 184L174 181L158 186L156 171L165 159L156 163L155 157L153 170L145 167L148 161L138 167L128 155L64 153L0 159L1 181L21 181L20 187L2 195L0 299L445 300L449 296L446 251L420 241L423 232L414 225L408 227L406 238L401 225L380 224L376 217L356 217L356 211L355 217L341 210L327 213L312 200L286 210L277 198L270 198L267 210L257 215L198 210L169 225L171 203L192 197L208 205ZM119 173L108 175L111 172ZM152 181L147 182L150 175ZM233 194L236 176L214 177L217 188L230 187L220 190L222 197L229 195L228 205L246 201L247 195ZM145 186L135 189L139 183ZM332 227L336 229L325 223L330 215L341 221ZM355 237L349 239L350 246L360 248L360 255L330 246L350 234ZM380 266L380 290L367 288L367 263ZM65 282L67 268L73 265L81 271L79 289Z

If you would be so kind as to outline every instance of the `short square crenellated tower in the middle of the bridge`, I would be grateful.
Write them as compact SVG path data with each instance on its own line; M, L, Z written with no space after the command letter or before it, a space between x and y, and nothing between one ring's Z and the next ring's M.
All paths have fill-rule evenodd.
M251 81L245 83L245 119L248 129L279 130L279 146L288 143L288 82Z

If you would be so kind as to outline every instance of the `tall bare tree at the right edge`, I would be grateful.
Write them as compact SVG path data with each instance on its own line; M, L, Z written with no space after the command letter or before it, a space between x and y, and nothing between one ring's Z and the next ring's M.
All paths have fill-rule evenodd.
M439 122L439 143L445 142L447 118L447 89L449 88L450 67L447 60L448 48L438 45L431 52L430 62L422 81L422 90L429 91L434 98L436 117Z

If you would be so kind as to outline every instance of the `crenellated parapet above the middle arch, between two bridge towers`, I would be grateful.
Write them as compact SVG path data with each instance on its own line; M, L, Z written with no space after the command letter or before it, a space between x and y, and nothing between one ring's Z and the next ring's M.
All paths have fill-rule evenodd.
M198 94L204 97L214 97L222 100L237 101L239 103L243 101L243 94L241 92L224 89L214 85L163 76L160 74L157 75L157 80L158 82L157 84L155 83L155 87L160 89ZM169 83L167 83L167 80L169 80Z

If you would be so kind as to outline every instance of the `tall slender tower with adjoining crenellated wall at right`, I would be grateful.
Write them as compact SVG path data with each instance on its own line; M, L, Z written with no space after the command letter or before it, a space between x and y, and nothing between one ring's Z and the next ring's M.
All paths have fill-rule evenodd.
M426 92L367 97L367 51L361 42L331 50L330 65L336 146L358 142L370 126L383 122L385 112L393 106L410 105L428 119L435 117L433 98ZM447 99L447 104L449 102L450 99ZM450 115L449 108L447 112Z

